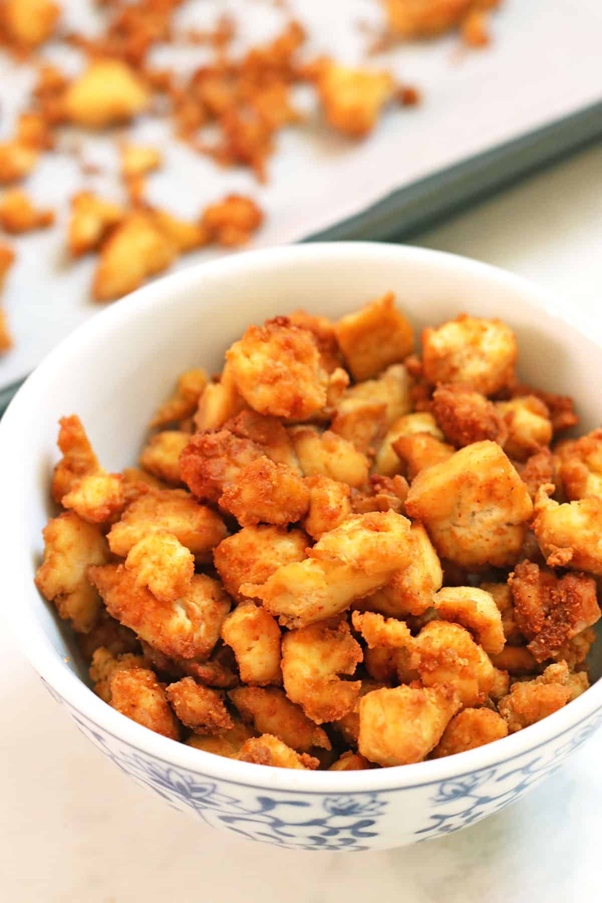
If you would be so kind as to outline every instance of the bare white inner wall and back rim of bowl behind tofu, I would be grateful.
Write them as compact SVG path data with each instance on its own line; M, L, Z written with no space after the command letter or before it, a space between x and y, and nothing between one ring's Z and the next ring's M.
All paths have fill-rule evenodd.
M580 432L600 423L592 381L602 359L596 337L561 320L529 284L461 258L363 244L293 247L201 265L148 286L55 349L2 424L11 515L5 549L23 606L65 668L86 677L69 630L32 583L42 527L53 513L49 481L60 416L79 414L103 466L122 470L135 463L146 424L178 374L193 366L218 371L225 349L249 323L299 307L336 319L389 290L418 337L424 326L459 312L507 321L517 334L521 379L574 396ZM591 664L597 679L602 652Z

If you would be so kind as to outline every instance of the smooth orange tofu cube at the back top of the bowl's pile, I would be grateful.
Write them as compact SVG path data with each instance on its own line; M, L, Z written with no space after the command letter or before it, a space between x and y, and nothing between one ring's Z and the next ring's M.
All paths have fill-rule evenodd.
M335 326L347 369L357 382L375 377L413 349L412 326L394 306L394 293L341 317Z

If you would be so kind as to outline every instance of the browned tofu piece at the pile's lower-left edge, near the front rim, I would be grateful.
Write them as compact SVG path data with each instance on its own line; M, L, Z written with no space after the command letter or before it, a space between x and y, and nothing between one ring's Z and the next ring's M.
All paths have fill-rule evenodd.
M109 678L111 706L150 731L180 740L180 725L153 671L147 668L116 669Z

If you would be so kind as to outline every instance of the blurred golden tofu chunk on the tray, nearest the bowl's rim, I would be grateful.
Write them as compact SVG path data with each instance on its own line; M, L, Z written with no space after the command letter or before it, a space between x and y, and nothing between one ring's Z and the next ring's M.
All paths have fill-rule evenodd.
M94 298L112 301L134 292L145 279L166 270L177 253L147 214L128 214L102 248L92 286Z

